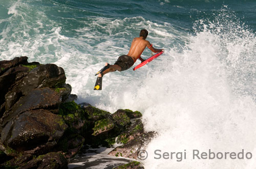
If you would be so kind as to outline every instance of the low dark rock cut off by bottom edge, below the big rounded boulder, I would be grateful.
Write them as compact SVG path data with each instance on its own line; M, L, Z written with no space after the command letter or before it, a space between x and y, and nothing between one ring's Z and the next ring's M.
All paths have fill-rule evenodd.
M48 153L40 155L28 163L20 166L19 169L68 169L68 161L60 153Z

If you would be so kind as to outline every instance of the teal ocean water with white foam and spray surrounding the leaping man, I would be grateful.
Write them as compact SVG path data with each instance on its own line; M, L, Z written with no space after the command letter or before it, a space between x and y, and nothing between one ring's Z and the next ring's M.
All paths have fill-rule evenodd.
M255 16L253 0L1 0L0 60L56 64L78 103L141 111L146 130L159 133L145 168L256 168ZM94 74L127 54L141 29L165 53L106 74L93 91ZM193 159L193 150L209 149L252 158ZM155 150L183 160L155 159Z

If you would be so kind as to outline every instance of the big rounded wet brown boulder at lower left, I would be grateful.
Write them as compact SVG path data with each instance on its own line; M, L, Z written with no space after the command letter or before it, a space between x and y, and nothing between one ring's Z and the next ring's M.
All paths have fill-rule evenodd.
M53 148L68 125L61 116L49 110L26 111L3 129L4 145L28 154L41 154Z

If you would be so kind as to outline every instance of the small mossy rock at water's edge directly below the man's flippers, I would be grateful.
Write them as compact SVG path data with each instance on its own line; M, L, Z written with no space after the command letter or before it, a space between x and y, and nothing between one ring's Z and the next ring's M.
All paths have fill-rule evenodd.
M89 120L92 121L98 121L100 119L106 119L109 118L111 113L108 111L101 110L99 108L96 108L94 106L87 106L83 108L84 112L88 115Z

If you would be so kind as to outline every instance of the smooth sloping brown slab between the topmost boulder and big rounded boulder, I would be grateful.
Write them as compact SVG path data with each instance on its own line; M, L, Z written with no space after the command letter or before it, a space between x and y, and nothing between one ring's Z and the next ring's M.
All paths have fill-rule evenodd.
M6 112L0 122L4 127L12 118L22 112L39 109L56 107L61 102L61 96L50 88L33 89L26 96L20 98L9 112Z

